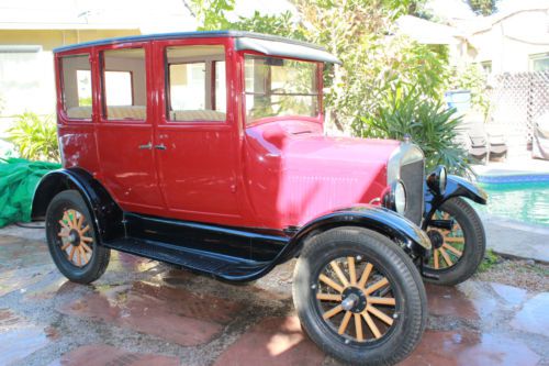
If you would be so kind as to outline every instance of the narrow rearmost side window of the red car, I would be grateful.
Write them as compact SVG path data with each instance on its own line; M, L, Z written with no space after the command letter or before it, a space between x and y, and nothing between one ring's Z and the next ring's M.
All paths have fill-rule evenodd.
M69 119L91 120L89 55L65 56L61 63L63 108Z

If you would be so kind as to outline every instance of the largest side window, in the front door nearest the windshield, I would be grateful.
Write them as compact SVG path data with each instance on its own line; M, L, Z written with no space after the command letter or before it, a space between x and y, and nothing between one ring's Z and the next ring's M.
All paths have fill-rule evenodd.
M168 47L166 59L168 119L182 122L225 121L225 48Z

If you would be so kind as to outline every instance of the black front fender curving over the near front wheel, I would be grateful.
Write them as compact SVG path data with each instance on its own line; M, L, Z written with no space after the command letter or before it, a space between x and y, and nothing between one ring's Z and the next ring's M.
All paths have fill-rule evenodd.
M413 257L430 253L430 240L416 224L385 208L363 204L337 210L301 226L281 253L284 258L298 255L311 235L337 226L360 226L379 232L396 242Z

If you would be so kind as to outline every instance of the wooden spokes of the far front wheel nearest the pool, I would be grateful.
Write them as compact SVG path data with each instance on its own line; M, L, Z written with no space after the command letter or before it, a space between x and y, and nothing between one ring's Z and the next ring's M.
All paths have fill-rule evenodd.
M466 237L463 229L450 213L438 210L434 214L434 220L451 220L450 230L427 226L427 235L432 239L433 255L427 264L434 269L450 268L458 264L463 256Z

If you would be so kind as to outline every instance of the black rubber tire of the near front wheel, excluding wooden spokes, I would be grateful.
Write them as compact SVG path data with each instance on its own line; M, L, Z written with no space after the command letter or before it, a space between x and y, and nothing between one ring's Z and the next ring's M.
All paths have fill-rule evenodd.
M321 301L317 300L317 297L324 295L318 295L321 286L324 286L324 284L321 282L320 276L327 264L341 257L347 257L347 260L349 260L348 256L371 264L389 281L395 302L394 312L390 317L393 322L388 325L388 330L379 339L376 339L369 324L362 324L362 312L367 313L368 309L355 308L352 311L347 311L354 312L354 314L358 313L358 321L362 324L360 325L361 333L363 329L370 332L362 340L358 339L356 323L349 329L349 334L344 333L340 335L333 326L334 324L329 322L329 319L324 320L323 315L326 317L326 312L321 314ZM352 260L356 268L356 262ZM350 268L350 263L348 263L348 268ZM357 274L355 278L359 278L359 271L356 269L354 271ZM366 269L362 275L365 273ZM348 278L351 279L349 284L352 284L350 271L349 276ZM346 287L345 291L349 287L352 287L352 285ZM369 286L363 285L360 287L359 281L358 287L366 296ZM345 291L340 293L345 295ZM325 292L325 290L322 290L322 292ZM374 296L376 293L373 292ZM307 241L294 270L293 301L302 326L311 340L322 351L350 364L393 365L402 361L417 346L427 320L425 288L419 271L410 257L388 237L355 226L332 229ZM347 317L347 312L343 315L344 319ZM370 315L370 320L372 318ZM379 321L379 319L376 320ZM347 326L345 325L345 328ZM350 335L352 328L355 329L355 339Z

